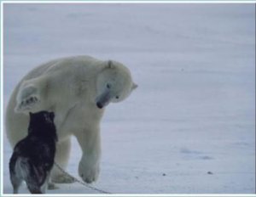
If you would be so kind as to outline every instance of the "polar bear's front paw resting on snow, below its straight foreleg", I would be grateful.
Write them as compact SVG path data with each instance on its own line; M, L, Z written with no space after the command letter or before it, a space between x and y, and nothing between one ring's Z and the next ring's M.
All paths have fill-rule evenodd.
M99 166L93 166L93 167L81 167L79 165L79 176L84 180L85 183L92 183L97 180L99 177Z

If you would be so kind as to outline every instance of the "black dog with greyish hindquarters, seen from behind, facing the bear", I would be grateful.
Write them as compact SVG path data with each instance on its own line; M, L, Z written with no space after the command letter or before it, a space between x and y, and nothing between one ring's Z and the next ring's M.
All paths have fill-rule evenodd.
M32 194L44 194L55 160L57 134L54 113L30 113L28 135L15 145L9 161L14 194L18 194L24 180Z

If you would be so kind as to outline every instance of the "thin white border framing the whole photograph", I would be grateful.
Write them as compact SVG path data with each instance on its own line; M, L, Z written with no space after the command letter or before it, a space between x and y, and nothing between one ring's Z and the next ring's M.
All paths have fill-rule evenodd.
M10 197L10 196L24 196L27 197L29 196L38 196L37 194L3 194L3 122L4 122L4 118L3 118L3 5L4 4L10 4L10 3L37 3L37 4L51 4L51 3L63 3L63 4L67 4L67 3L241 3L241 4L245 4L245 3L253 3L256 6L256 0L246 0L246 1L241 1L241 0L226 0L226 1L169 1L169 0L160 0L160 1L1 1L1 172L0 172L0 176L1 176L1 181L0 181L0 196L3 197ZM256 7L255 7L256 9ZM256 176L256 175L255 175ZM256 193L256 191L255 191ZM230 196L237 196L237 197L256 197L256 194L40 194L40 196L141 196L141 197L148 197L148 196L159 196L159 197L166 197L166 196L180 196L180 197L187 197L187 196L191 196L191 197L200 197L200 196L219 196L219 197L230 197Z

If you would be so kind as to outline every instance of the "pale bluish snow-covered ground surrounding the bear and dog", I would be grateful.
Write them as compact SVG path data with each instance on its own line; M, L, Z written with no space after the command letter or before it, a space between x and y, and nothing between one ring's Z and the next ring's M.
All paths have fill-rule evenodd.
M4 4L4 107L36 65L89 54L139 87L102 121L96 186L114 194L255 193L253 4ZM4 134L3 193L12 193ZM79 146L67 171L78 177ZM79 183L49 194L92 194ZM25 187L22 193L27 193Z

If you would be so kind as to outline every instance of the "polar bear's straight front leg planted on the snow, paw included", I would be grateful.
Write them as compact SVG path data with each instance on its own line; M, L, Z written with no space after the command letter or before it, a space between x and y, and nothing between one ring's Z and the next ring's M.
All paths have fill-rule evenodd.
M79 162L79 176L85 183L97 180L100 172L101 138L99 129L76 133L81 149L82 159Z

